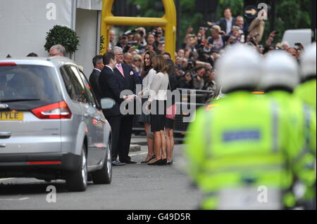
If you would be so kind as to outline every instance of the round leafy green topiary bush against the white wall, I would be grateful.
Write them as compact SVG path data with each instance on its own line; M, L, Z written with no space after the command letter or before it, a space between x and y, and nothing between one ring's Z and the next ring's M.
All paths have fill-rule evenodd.
M74 53L78 50L79 37L77 37L77 34L73 29L55 25L46 34L46 44L44 45L46 51L49 51L51 46L56 44L63 45L66 48L67 53Z

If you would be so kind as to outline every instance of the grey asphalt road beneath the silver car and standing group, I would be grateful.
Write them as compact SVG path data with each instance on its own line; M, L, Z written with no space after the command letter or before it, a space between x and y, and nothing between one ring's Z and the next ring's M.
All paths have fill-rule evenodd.
M0 179L2 209L113 209L113 210L191 210L199 204L200 194L190 185L180 168L183 145L175 145L174 164L148 166L127 164L113 167L110 185L89 183L85 192L68 192L63 180L46 183L35 178ZM147 147L132 152L132 160L141 162ZM46 187L56 187L56 202Z

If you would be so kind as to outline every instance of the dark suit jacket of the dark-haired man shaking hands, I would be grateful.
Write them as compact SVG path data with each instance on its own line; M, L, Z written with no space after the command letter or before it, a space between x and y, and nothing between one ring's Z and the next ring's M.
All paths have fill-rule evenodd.
M121 91L125 88L125 83L120 81L117 74L114 74L109 67L104 67L99 76L99 85L101 89L101 98L111 98L116 101L109 110L103 110L104 116L120 116L120 104L123 98L120 98Z

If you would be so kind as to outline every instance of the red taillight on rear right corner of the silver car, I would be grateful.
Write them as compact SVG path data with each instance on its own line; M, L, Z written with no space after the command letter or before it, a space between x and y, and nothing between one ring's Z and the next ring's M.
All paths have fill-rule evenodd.
M65 101L31 110L39 119L71 119L72 112Z

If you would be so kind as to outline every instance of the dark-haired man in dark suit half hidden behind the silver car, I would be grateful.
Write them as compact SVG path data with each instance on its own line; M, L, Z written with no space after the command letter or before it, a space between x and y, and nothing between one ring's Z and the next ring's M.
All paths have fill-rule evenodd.
M89 83L92 86L94 95L96 95L96 98L98 102L100 103L101 90L99 86L99 75L101 70L104 68L104 62L102 60L102 56L101 55L94 56L94 58L92 58L92 64L94 65L94 70L92 71L92 74L90 74Z

